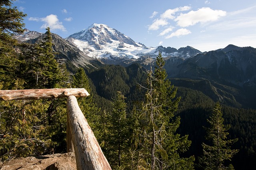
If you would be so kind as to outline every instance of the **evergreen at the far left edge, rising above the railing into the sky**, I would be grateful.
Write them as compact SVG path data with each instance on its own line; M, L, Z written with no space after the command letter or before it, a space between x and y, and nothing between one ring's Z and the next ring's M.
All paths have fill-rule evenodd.
M14 50L16 40L12 33L23 33L23 18L26 14L12 8L12 0L0 2L0 88L12 89L16 81L14 71L17 66L17 53Z

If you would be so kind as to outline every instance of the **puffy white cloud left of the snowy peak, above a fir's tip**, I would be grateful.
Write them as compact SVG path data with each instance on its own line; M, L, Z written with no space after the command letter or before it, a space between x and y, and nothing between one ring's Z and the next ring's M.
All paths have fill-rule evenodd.
M58 16L54 14L50 14L46 16L45 18L41 18L41 21L44 21L45 23L41 26L42 29L46 27L50 27L52 30L59 29L61 31L66 31L66 28L62 25L62 22L58 20Z

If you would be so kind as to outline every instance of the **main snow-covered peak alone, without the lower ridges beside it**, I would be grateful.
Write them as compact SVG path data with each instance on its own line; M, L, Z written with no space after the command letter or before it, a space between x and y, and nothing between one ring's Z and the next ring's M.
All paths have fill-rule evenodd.
M67 38L81 51L93 58L139 58L138 51L149 49L136 43L130 37L105 24L94 23L87 29Z

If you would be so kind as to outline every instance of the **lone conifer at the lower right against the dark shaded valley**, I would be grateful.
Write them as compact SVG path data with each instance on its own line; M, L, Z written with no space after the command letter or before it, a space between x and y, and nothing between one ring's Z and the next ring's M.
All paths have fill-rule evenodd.
M234 169L232 164L225 166L226 160L231 158L238 152L236 149L230 149L230 145L235 143L237 139L227 139L226 132L230 125L224 126L224 119L220 103L217 102L213 109L210 119L207 119L210 127L206 128L206 139L210 141L210 145L202 143L203 155L199 158L203 169L225 170Z

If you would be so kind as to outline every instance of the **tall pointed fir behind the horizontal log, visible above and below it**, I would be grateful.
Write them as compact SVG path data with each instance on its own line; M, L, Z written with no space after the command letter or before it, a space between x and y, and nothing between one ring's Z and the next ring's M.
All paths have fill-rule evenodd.
M69 79L66 67L60 65L53 51L52 33L46 28L44 40L39 44L40 55L38 57L38 72L36 74L37 87L42 88L68 88ZM50 99L46 111L47 138L52 141L50 150L57 152L66 151L66 99Z

